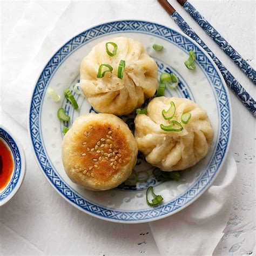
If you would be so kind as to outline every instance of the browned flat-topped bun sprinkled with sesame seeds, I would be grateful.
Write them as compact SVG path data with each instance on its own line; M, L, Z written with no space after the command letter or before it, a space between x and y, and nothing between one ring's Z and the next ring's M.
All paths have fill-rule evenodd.
M109 190L131 175L138 147L113 114L84 114L65 134L62 160L69 178L89 190Z

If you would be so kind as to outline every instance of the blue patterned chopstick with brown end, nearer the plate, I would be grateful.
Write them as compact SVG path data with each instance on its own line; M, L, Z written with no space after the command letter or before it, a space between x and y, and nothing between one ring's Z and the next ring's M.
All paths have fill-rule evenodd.
M241 102L246 106L246 108L256 117L256 102L250 96L250 94L242 87L239 82L233 77L233 75L228 71L225 66L220 62L220 60L214 55L214 53L206 46L206 44L201 40L201 38L192 30L192 28L184 21L184 19L178 14L178 12L172 7L172 5L167 2L167 0L158 0L158 2L163 6L167 14L173 19L173 21L179 26L179 28L191 39L196 41L212 58L214 63L218 66L218 69L223 75L223 78L228 87L235 93L235 95L241 100Z

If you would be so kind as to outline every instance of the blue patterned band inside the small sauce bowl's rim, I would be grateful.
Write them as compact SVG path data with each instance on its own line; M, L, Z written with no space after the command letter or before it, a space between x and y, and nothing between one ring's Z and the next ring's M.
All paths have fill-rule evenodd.
M12 156L14 156L14 174L12 175L11 181L8 186L4 189L3 192L0 193L0 201L4 198L8 197L9 194L16 187L19 176L21 175L21 155L19 153L18 146L16 145L14 139L10 136L8 132L0 128L0 138L4 140L6 144L8 144L9 149L12 152Z

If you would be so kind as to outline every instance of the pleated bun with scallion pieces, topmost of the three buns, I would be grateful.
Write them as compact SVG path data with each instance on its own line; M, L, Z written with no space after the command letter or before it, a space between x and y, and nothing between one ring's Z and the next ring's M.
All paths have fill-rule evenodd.
M116 55L109 56L106 43L117 44ZM113 46L108 44L112 53ZM118 78L120 60L125 60L123 78ZM99 66L113 70L97 78ZM102 67L102 72L107 70ZM157 64L147 54L142 43L127 37L116 37L92 48L80 65L80 87L89 103L99 112L122 116L141 106L157 89Z

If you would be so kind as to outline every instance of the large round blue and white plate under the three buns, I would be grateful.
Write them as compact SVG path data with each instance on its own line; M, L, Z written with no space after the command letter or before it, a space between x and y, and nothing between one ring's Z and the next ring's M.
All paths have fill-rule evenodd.
M120 186L104 192L85 190L66 176L61 159L62 127L56 113L64 107L71 120L71 126L80 114L94 112L87 100L75 93L79 109L72 106L63 97L63 90L79 80L81 60L97 43L117 36L126 36L142 42L147 52L156 60L161 72L172 71L179 78L175 90L166 90L166 96L186 97L203 107L211 119L214 140L210 152L196 166L185 170L180 181L156 180L152 175L154 169L147 164L141 153L138 155L135 170L146 171L150 178L146 183L136 186ZM154 43L164 45L161 52L154 51ZM184 61L187 52L196 52L196 70L188 70ZM46 94L52 87L62 100L55 103ZM79 210L97 218L118 223L142 223L153 221L174 214L196 200L213 182L225 160L231 139L230 97L227 87L217 66L207 53L192 39L176 30L163 25L145 21L116 21L104 23L87 29L63 45L45 66L33 91L29 132L41 170L51 185L70 204ZM133 129L133 116L123 117ZM164 198L163 204L150 207L146 204L146 188L154 186L156 194ZM205 202L207 205L207 202Z

